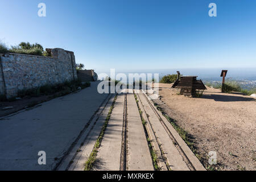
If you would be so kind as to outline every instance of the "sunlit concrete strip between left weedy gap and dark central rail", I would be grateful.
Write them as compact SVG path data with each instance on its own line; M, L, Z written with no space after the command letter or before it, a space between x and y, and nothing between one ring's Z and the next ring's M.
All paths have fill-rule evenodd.
M125 94L119 94L106 127L94 170L119 171Z

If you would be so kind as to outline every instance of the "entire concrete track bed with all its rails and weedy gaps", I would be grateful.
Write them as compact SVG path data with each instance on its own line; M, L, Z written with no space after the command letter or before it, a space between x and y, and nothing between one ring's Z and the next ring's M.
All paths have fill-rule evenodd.
M60 169L205 170L143 90L111 96L95 117Z

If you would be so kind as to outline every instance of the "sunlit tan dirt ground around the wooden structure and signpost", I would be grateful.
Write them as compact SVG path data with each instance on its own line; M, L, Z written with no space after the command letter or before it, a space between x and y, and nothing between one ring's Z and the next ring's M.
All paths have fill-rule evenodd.
M216 151L220 170L256 169L256 102L240 93L208 88L203 97L180 96L170 84L159 84L155 101L176 124L194 137L197 151L208 165L208 152Z

